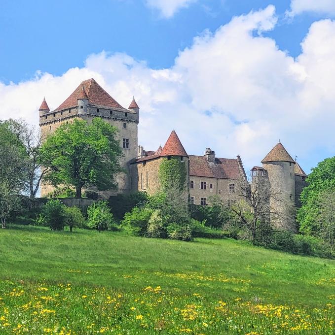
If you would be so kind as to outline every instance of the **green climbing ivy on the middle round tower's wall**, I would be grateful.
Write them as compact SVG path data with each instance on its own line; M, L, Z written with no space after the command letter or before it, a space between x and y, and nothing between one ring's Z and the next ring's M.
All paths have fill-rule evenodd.
M159 181L163 189L166 189L172 182L183 189L186 184L186 162L180 157L171 157L170 160L164 158L159 166Z

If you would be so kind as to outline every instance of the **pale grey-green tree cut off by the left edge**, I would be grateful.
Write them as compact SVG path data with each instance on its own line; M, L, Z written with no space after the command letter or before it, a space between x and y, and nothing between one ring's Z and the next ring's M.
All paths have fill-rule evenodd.
M0 219L1 227L6 228L8 216L20 207L27 181L27 162L20 146L2 139L0 134Z

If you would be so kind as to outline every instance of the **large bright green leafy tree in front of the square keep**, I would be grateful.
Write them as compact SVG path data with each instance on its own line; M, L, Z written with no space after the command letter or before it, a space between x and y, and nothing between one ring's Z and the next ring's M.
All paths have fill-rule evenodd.
M41 147L41 163L49 166L44 180L53 186L73 186L76 198L81 198L83 187L116 188L114 177L122 171L116 135L117 128L100 118L92 124L75 119L61 125Z

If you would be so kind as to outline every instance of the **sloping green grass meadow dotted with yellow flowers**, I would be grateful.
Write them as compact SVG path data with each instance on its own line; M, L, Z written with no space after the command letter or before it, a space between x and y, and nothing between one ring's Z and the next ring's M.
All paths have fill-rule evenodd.
M230 239L0 231L1 334L334 334L335 261Z

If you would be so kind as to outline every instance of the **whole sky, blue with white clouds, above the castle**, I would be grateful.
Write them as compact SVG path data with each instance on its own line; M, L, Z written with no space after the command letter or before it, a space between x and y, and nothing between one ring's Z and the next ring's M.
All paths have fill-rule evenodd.
M0 120L38 125L85 79L140 106L139 143L335 155L334 0L0 0Z

